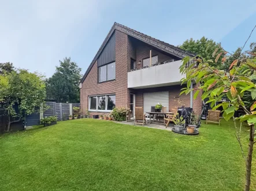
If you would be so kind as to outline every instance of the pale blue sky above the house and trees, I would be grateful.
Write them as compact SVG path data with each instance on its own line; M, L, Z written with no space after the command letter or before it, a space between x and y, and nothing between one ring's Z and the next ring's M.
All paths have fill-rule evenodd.
M256 25L256 1L0 0L0 62L50 77L65 56L84 73L114 22L173 45L206 36L228 51ZM249 43L256 41L256 31Z

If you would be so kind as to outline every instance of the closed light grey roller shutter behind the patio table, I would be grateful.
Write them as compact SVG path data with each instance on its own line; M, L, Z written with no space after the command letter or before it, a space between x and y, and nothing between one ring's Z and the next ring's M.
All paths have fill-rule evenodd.
M151 93L143 93L143 110L151 111L151 106L162 104L169 111L169 91L158 91Z

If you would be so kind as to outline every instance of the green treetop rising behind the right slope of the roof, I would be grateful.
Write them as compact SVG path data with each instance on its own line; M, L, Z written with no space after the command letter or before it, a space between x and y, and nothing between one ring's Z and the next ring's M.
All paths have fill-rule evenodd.
M212 60L215 55L220 54L222 48L220 44L217 44L212 39L208 40L206 37L202 37L200 40L190 40L184 41L183 44L179 46L186 51L194 52L195 54L201 55L205 60ZM221 58L218 59L217 63L209 63L212 66L220 67L221 66Z

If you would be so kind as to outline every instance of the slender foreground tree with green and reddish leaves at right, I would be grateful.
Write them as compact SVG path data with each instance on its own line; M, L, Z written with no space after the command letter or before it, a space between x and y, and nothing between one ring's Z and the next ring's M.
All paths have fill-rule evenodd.
M242 52L242 49L240 52ZM221 49L221 51L223 55L226 54L223 49ZM256 52L251 52L251 55L256 56ZM238 55L238 58L240 58L240 55ZM192 81L195 81L195 83L199 84L198 88L203 90L202 100L209 98L209 101L206 103L211 103L210 105L213 110L222 106L224 119L233 119L236 128L236 138L238 139L246 161L246 184L244 190L247 191L250 190L253 146L256 143L254 140L254 136L256 136L254 128L254 124L256 123L256 101L251 104L250 108L247 108L244 104L243 97L245 94L249 94L252 100L255 100L256 98L256 85L254 83L254 79L256 79L256 59L236 59L229 66L229 71L218 70L208 62L205 62L205 60L206 59L203 59L201 56L192 59L186 57L183 59L183 64L180 66L180 72L186 74L186 78L182 79L182 83L187 82L187 87L181 89L183 90L181 91L181 94L190 93L193 90L190 89L190 85ZM225 62L225 59L223 60ZM188 66L187 64L189 62L196 62L198 67L194 67L194 64ZM218 58L215 59L215 63L217 62ZM244 66L250 70L246 69L247 72L251 73L244 72ZM198 96L201 90L196 91L194 98ZM217 104L218 101L222 100L224 97L228 97L230 102L224 101ZM243 109L245 114L235 119L235 111L239 108ZM243 152L243 146L240 142L240 131L236 127L236 120L240 120L240 123L245 121L250 125L247 156L245 156Z

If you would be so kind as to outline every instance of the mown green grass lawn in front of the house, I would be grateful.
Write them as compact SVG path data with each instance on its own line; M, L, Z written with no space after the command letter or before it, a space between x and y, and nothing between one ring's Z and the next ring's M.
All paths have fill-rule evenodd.
M8 133L0 136L0 190L242 190L233 132L231 121L185 136L80 119ZM255 172L254 152L251 190Z

